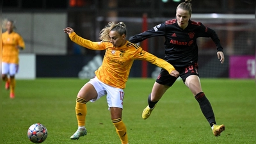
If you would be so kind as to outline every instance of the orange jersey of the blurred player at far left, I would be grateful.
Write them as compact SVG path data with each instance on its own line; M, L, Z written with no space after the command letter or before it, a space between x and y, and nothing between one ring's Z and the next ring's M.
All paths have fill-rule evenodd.
M14 31L8 33L7 31L2 33L2 61L5 63L19 64L19 49L16 47L19 45L23 49L25 43L23 38Z

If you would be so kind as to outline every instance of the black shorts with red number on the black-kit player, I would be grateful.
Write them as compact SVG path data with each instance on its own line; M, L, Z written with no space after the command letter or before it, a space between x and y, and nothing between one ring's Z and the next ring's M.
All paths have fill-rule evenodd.
M180 77L185 83L186 78L191 75L198 75L198 63L193 63L188 67L175 67L175 69L180 73ZM160 74L157 76L156 82L159 84L172 86L172 84L176 81L177 77L173 77L169 74L167 70L162 68Z

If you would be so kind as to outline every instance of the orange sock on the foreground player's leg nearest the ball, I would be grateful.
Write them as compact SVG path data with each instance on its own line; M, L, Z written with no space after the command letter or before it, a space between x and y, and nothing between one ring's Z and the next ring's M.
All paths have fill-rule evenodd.
M87 114L86 101L81 98L76 98L76 118L78 126L85 125L85 116Z

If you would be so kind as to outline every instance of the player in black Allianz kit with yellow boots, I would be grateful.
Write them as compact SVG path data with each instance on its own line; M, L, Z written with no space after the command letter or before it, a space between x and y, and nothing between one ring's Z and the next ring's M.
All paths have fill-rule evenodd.
M167 20L154 28L134 35L129 41L137 44L150 37L165 37L164 59L179 71L184 84L193 93L200 105L202 113L211 125L214 136L220 136L221 132L225 130L225 125L216 125L212 106L202 91L198 75L198 46L196 44L196 38L211 37L217 47L217 56L221 63L224 62L223 48L214 30L205 27L201 22L190 20L192 12L190 1L186 0L177 6L176 19ZM147 119L150 116L157 102L166 90L175 83L176 79L177 77L170 76L166 70L161 70L154 83L152 92L148 96L148 106L142 113L143 119Z

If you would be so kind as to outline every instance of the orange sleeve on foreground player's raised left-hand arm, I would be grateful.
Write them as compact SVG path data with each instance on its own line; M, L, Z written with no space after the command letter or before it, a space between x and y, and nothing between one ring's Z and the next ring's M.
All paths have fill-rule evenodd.
M75 42L78 45L81 45L82 47L86 47L87 49L92 49L92 50L104 50L106 47L102 42L92 42L90 40L86 40L82 38L79 35L76 35L75 32L70 33L69 35L70 40L72 42Z

